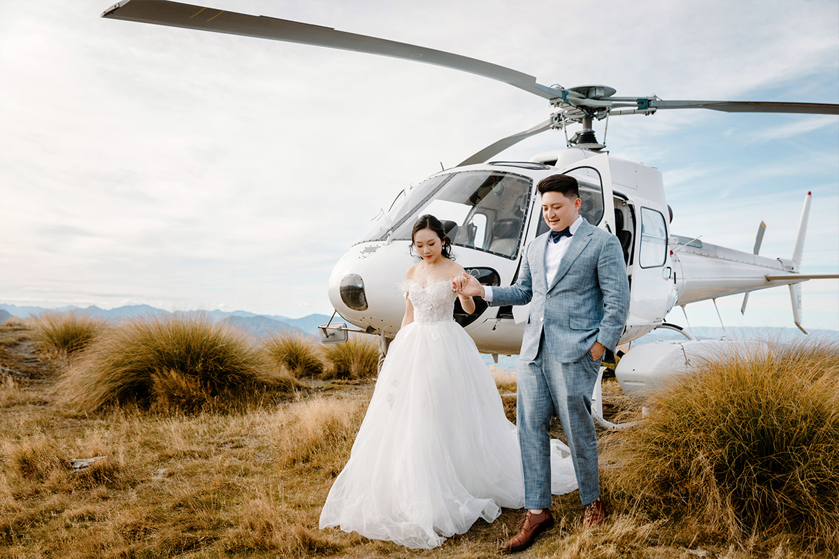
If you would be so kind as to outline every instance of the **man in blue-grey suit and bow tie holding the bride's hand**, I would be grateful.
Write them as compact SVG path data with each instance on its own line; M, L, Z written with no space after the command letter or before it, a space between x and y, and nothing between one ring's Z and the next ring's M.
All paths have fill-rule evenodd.
M553 412L571 448L585 505L584 524L598 525L606 517L597 474L591 393L601 357L618 345L629 308L620 242L582 219L576 179L555 174L537 188L550 232L527 247L519 280L493 289L465 275L467 281L459 289L495 306L530 303L519 355L516 420L527 511L519 533L503 545L503 551L526 549L554 525L549 433Z

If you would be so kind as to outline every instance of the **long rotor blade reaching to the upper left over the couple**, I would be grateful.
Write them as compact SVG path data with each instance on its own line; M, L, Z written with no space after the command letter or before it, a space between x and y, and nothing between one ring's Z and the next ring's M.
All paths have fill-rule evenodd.
M537 84L536 78L532 75L483 60L287 19L227 12L216 8L204 8L167 0L124 0L105 10L102 13L102 18L156 23L171 27L215 31L216 33L274 39L289 43L312 44L330 49L354 50L362 53L414 60L415 62L425 62L425 64L445 66L446 68L462 70L492 80L502 81L545 99L556 99L563 92L562 89Z

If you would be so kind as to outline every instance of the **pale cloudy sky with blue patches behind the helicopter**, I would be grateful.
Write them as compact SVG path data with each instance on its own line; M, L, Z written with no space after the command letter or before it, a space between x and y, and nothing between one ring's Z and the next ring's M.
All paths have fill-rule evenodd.
M211 0L487 60L618 96L839 103L834 0ZM370 54L100 18L109 3L0 0L0 303L331 313L341 255L401 189L544 121L503 83ZM603 139L603 123L596 126ZM573 132L573 131L572 131ZM610 119L658 168L671 231L839 272L839 117L660 111ZM563 148L561 132L498 159ZM786 287L721 298L726 326L792 326ZM803 284L839 329L839 282ZM687 307L717 326L712 303ZM679 308L670 321L685 324Z

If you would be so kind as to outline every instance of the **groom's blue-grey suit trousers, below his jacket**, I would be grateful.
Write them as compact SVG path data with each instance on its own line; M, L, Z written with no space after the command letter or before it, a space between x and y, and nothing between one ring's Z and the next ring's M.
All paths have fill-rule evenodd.
M516 423L525 509L550 509L550 420L554 412L571 448L582 504L600 496L597 435L591 418L591 393L599 365L587 351L579 361L560 363L550 356L544 338L535 360L519 361Z

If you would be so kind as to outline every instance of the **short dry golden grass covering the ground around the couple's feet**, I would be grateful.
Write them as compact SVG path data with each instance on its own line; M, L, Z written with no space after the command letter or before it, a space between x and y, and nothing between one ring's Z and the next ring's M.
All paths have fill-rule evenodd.
M23 336L9 346L25 343ZM0 384L0 398L4 391L34 395L0 408L3 557L498 557L498 545L519 522L520 511L505 510L491 525L478 521L430 551L318 530L320 507L349 457L371 383L301 392L290 403L233 414L149 414L138 406L80 414L55 405L55 375L45 378ZM613 384L604 389L607 400ZM90 471L69 467L70 458L94 456L106 458ZM795 533L730 539L690 509L660 514L625 496L634 488L619 486L611 474L602 477L611 513L604 525L581 528L578 494L556 496L558 526L520 556L828 557Z

